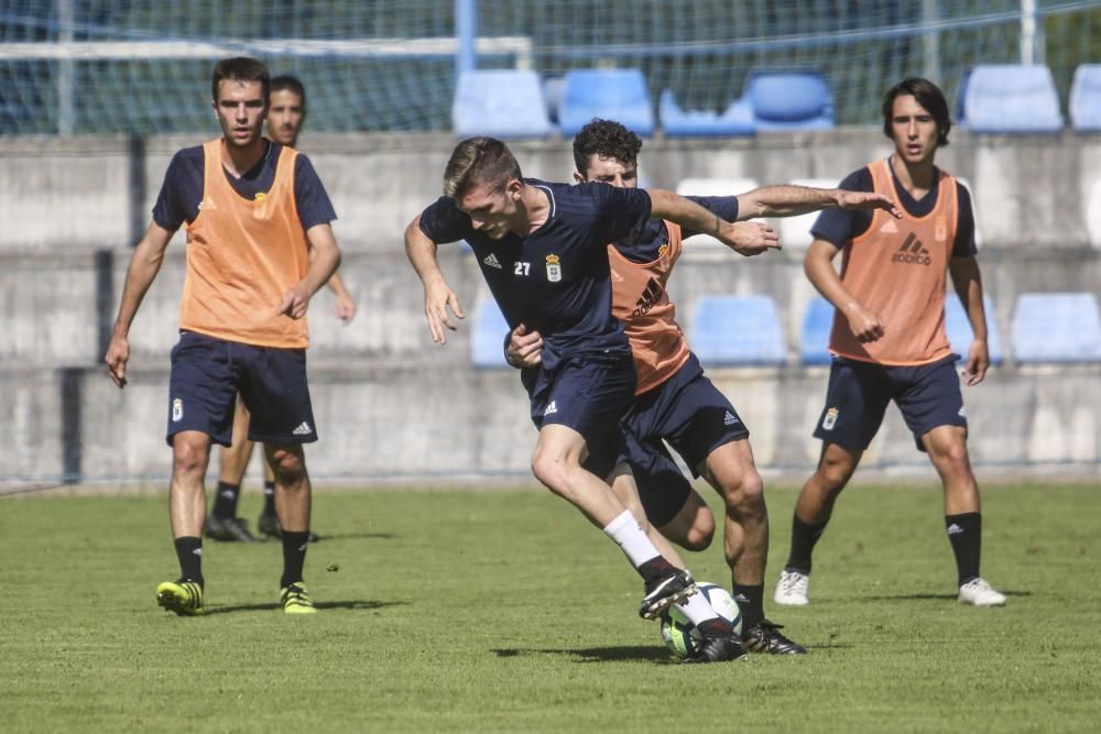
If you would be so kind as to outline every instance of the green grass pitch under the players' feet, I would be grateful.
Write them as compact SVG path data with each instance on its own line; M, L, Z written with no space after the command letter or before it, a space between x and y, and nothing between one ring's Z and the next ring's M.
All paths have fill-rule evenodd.
M795 492L768 493L771 596ZM275 610L275 543L207 541L209 614L160 610L176 576L163 496L4 500L0 727L1098 731L1101 491L988 486L983 502L983 573L1006 607L956 604L939 487L853 487L813 604L766 605L810 655L678 666L636 616L626 561L549 494L319 494L312 617ZM729 583L721 541L686 557Z

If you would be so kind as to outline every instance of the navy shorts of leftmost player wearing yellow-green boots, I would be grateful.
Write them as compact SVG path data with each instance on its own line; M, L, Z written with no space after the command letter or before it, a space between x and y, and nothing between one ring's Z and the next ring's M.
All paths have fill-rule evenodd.
M306 386L306 350L251 347L181 331L172 348L168 432L198 430L229 446L240 393L249 408L249 439L264 443L317 440Z

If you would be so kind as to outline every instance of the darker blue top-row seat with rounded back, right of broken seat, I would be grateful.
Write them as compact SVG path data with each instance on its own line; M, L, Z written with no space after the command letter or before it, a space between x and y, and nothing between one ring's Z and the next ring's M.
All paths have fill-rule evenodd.
M818 72L754 72L745 83L756 129L829 130L833 98Z

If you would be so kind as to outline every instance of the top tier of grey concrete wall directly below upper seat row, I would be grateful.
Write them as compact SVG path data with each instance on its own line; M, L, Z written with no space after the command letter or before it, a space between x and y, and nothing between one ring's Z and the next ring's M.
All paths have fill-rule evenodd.
M1101 171L1101 138L969 135L957 130L939 163L972 185L979 224L998 247L1087 242L1089 185ZM0 140L0 249L115 247L149 221L172 154L200 142L164 136L132 144L115 138ZM449 135L309 135L302 149L325 182L337 233L353 250L388 250L405 223L439 195ZM512 146L526 175L568 180L569 141ZM840 179L891 150L872 129L770 133L750 140L651 140L647 185L688 177L761 183Z

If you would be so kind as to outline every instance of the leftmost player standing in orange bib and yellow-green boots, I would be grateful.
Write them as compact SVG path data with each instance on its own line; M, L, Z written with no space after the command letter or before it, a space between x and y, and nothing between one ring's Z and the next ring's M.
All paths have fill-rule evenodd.
M275 478L283 527L280 605L316 610L303 583L310 485L302 445L317 440L306 384L306 308L340 263L333 205L306 156L261 135L268 68L254 58L218 62L211 79L222 136L175 154L153 221L127 271L106 362L127 384L129 331L173 232L187 227L179 342L172 350L167 442L168 515L179 578L156 589L179 615L205 611L203 478L210 443L230 441L238 393ZM309 258L309 249L314 258Z

